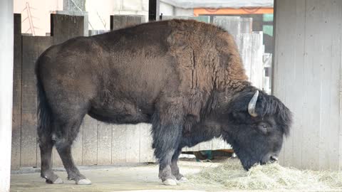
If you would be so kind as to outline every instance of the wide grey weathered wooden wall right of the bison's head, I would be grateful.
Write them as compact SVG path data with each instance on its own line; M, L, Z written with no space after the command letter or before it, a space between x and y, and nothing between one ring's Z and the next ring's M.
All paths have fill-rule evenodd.
M342 1L276 1L274 95L294 113L281 164L342 167Z

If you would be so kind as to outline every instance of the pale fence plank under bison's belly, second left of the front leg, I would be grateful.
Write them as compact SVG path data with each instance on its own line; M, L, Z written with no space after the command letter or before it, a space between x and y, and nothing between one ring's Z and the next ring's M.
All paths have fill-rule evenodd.
M140 161L140 127L135 124L126 125L126 162L138 163Z

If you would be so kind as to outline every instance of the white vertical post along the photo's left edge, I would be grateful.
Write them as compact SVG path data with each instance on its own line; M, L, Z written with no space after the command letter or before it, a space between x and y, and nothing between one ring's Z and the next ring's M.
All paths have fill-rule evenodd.
M0 191L9 191L13 101L13 1L0 1Z

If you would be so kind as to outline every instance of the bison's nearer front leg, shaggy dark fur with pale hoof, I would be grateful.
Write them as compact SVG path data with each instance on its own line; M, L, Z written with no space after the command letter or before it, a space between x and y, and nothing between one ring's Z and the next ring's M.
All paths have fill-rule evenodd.
M172 156L180 144L183 127L182 106L177 104L174 100L162 102L152 119L153 147L160 164L159 178L168 186L175 186L178 182L171 169Z

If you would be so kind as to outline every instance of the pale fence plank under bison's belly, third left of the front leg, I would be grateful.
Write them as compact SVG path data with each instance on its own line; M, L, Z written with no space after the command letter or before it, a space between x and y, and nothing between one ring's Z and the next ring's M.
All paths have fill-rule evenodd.
M113 124L112 136L112 164L126 161L126 125Z

